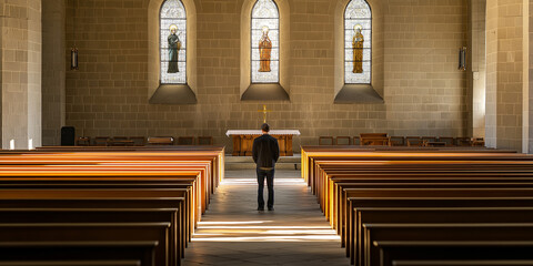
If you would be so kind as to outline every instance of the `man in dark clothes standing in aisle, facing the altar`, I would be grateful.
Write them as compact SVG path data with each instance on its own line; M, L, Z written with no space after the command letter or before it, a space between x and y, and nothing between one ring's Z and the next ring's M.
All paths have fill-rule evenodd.
M258 211L264 211L263 188L264 177L269 187L269 211L274 211L274 166L280 157L278 140L269 135L269 124L261 125L262 136L253 140L252 156L258 172Z

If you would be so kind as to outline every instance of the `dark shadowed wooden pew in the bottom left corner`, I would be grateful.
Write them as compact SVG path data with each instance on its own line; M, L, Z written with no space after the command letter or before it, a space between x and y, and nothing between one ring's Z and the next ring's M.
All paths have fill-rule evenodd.
M0 265L155 266L158 242L0 242ZM77 259L77 260L73 260ZM134 264L132 264L134 263Z

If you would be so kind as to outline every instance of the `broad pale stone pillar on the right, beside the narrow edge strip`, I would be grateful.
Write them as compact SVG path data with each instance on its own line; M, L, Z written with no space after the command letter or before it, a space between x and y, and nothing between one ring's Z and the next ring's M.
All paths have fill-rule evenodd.
M522 151L523 0L486 1L486 145Z

